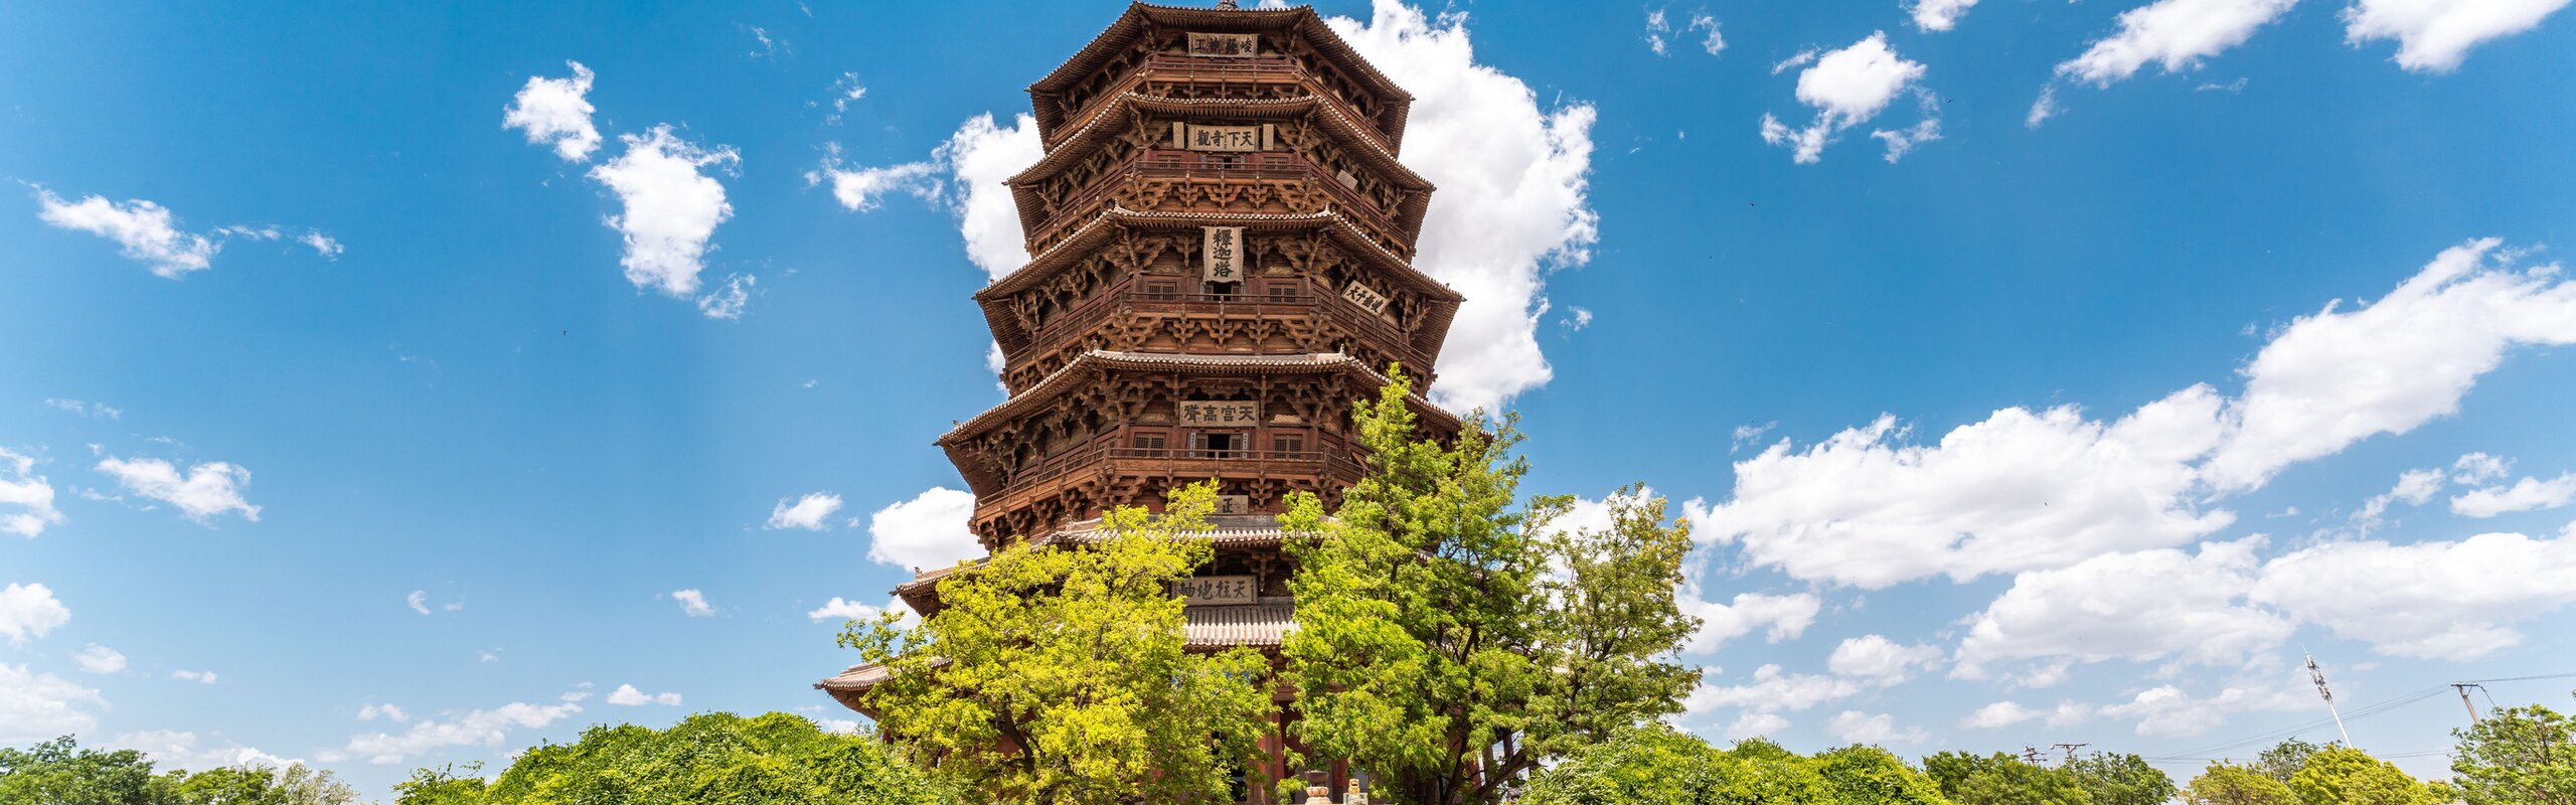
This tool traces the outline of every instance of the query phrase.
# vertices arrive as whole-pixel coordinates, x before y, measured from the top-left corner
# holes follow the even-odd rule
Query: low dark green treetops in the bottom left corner
[[[72,735],[0,746],[0,802],[36,805],[348,805],[358,792],[304,764],[152,774],[131,748],[80,748]]]

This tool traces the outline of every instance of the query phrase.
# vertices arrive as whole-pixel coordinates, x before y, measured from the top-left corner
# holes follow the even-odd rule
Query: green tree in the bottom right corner
[[[2468,805],[2576,805],[2576,728],[2555,710],[2506,707],[2452,730],[2452,784]]]

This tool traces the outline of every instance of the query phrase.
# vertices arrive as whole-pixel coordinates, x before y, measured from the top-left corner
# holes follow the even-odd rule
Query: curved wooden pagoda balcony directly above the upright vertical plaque
[[[1095,214],[1108,212],[1113,199],[1133,194],[1139,181],[1177,178],[1216,186],[1293,183],[1319,188],[1332,199],[1332,212],[1360,227],[1370,240],[1412,261],[1414,235],[1422,222],[1399,222],[1378,201],[1345,186],[1340,178],[1298,152],[1193,152],[1193,150],[1141,150],[1126,163],[1100,173],[1090,186],[1043,212],[1046,222],[1028,240],[1028,253],[1046,253],[1066,235],[1077,232]],[[1128,206],[1139,209],[1139,206]],[[1206,212],[1206,214],[1311,214],[1321,209],[1159,209],[1139,212]]]

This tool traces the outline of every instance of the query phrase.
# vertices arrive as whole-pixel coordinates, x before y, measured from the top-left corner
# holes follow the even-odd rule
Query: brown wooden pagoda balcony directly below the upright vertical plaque
[[[1139,289],[1146,276],[1128,276],[1110,284],[1100,294],[1077,302],[1072,310],[1054,315],[1046,325],[1028,333],[1028,341],[1018,348],[1005,348],[1002,359],[1007,364],[1005,377],[1023,379],[1012,387],[1025,387],[1056,366],[1043,366],[1033,377],[1023,377],[1030,359],[1043,359],[1082,343],[1082,335],[1097,333],[1097,328],[1115,317],[1216,317],[1216,320],[1309,320],[1319,325],[1334,325],[1342,333],[1365,338],[1370,346],[1386,351],[1388,359],[1401,361],[1409,372],[1427,374],[1432,356],[1414,343],[1394,323],[1368,312],[1358,302],[1342,299],[1337,294],[1319,294],[1316,286],[1301,284],[1296,294],[1180,294],[1180,292],[1149,292]],[[1128,346],[1113,346],[1128,348]],[[1324,351],[1314,343],[1291,346],[1283,351]],[[1061,361],[1059,361],[1061,366]],[[1383,369],[1383,366],[1373,366]]]

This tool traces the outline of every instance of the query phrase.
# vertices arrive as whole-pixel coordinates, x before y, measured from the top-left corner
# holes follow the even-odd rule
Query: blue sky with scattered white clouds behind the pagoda
[[[1692,501],[1682,725],[2244,756],[2303,648],[2576,671],[2561,5],[1319,10],[1422,98],[1440,400]],[[1020,88],[1118,10],[0,10],[0,740],[384,792],[842,717],[963,534]]]

